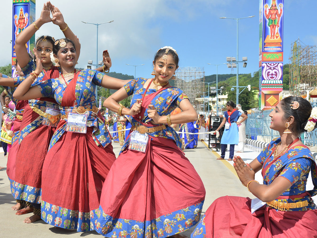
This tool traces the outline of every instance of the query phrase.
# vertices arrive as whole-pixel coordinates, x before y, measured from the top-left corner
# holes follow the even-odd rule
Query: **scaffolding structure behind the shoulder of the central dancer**
[[[204,109],[204,104],[196,100],[197,97],[203,96],[204,82],[205,71],[203,67],[179,67],[177,70],[175,87],[185,92],[197,111]]]

